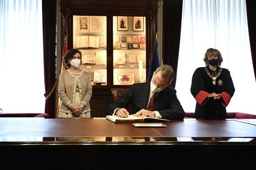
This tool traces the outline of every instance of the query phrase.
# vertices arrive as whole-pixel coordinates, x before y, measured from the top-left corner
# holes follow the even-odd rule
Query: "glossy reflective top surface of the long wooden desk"
[[[0,144],[6,142],[151,142],[179,141],[256,143],[255,120],[196,120],[163,122],[166,128],[134,128],[105,118],[0,118]]]

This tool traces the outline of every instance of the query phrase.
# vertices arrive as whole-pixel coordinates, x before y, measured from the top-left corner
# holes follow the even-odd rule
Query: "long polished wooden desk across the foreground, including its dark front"
[[[256,125],[246,120],[164,124],[166,128],[134,128],[96,118],[0,118],[1,165],[9,169],[256,168]]]

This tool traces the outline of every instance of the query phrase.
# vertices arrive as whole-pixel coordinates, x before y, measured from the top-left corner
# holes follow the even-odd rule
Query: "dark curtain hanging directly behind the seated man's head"
[[[164,0],[163,6],[163,51],[162,62],[173,67],[175,77],[171,87],[175,87],[182,17],[182,0]]]

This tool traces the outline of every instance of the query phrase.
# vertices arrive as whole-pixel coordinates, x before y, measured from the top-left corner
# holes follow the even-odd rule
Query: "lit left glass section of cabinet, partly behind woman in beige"
[[[106,16],[73,16],[73,48],[81,51],[91,84],[106,85]]]

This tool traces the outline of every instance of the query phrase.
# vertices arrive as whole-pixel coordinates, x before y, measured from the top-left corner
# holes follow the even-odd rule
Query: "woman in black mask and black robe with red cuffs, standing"
[[[220,67],[223,59],[217,49],[208,49],[203,60],[206,67],[195,70],[190,88],[197,101],[194,117],[226,119],[226,107],[235,92],[230,72]]]

